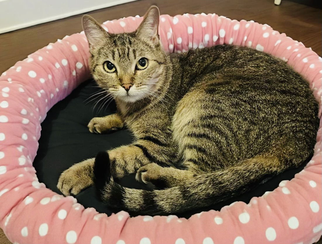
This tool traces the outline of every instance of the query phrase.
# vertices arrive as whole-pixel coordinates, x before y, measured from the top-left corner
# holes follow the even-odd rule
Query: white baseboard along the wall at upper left
[[[137,0],[0,0],[0,33],[132,1]]]

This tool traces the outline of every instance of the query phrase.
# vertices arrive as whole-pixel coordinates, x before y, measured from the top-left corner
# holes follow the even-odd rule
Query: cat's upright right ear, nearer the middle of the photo
[[[137,36],[159,43],[159,17],[160,12],[157,6],[151,6],[143,17],[143,21],[137,28]]]

